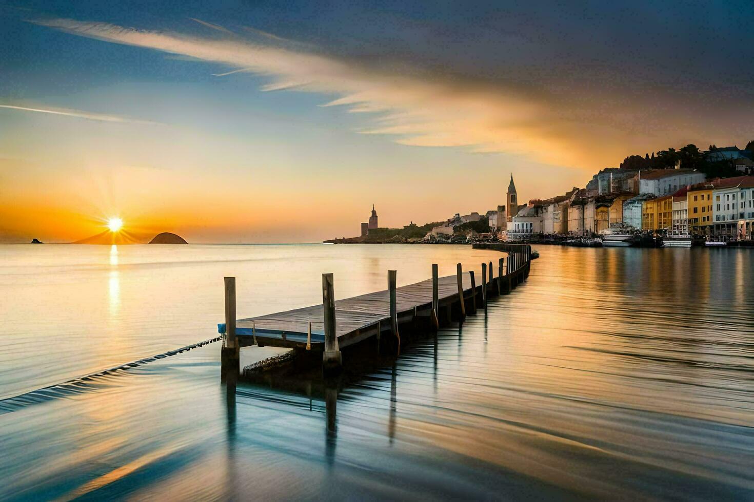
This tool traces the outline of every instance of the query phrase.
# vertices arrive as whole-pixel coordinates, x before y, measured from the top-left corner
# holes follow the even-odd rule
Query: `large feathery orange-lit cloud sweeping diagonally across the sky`
[[[618,163],[627,150],[651,145],[658,132],[672,129],[673,114],[648,114],[636,100],[615,99],[600,90],[553,95],[544,87],[515,84],[520,82],[516,78],[486,81],[421,65],[336,56],[269,35],[247,40],[196,21],[213,29],[215,37],[68,19],[36,23],[227,65],[228,71],[218,76],[265,75],[271,82],[262,90],[335,95],[323,106],[372,114],[373,126],[360,132],[391,135],[403,145],[526,154],[547,163],[593,168]],[[689,132],[699,131],[690,127]]]

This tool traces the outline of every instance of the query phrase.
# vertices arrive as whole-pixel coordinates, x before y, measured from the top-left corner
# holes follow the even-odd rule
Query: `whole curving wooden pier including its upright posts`
[[[400,329],[424,321],[428,327],[462,322],[477,308],[486,308],[491,295],[507,294],[529,275],[532,248],[502,243],[476,244],[475,249],[507,253],[482,264],[482,275],[464,272],[458,263],[456,274],[432,278],[396,288],[394,270],[388,271],[388,289],[358,297],[335,300],[332,274],[323,274],[323,303],[303,309],[235,320],[235,278],[225,278],[225,323],[218,332],[225,335],[223,366],[238,367],[238,350],[249,345],[270,345],[323,352],[326,371],[341,364],[340,348],[373,336],[391,336],[400,347]],[[496,270],[495,270],[496,269]],[[496,273],[495,273],[496,272]],[[229,327],[229,329],[228,329]]]

